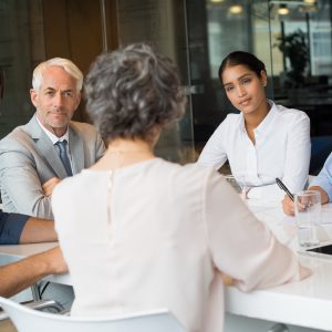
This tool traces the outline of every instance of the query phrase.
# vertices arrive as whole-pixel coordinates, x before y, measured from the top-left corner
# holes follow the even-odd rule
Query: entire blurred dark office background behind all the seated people
[[[69,58],[86,73],[101,52],[145,41],[176,61],[188,95],[186,116],[163,135],[157,154],[196,160],[235,112],[219,83],[220,61],[245,50],[267,64],[268,96],[310,116],[317,174],[332,151],[331,24],[329,0],[0,0],[0,138],[34,112],[37,63]],[[89,121],[84,103],[74,118]]]

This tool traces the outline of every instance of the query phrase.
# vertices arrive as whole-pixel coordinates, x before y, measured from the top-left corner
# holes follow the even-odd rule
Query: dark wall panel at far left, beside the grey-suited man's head
[[[34,63],[43,60],[41,1],[0,1],[0,138],[33,114],[29,87]]]

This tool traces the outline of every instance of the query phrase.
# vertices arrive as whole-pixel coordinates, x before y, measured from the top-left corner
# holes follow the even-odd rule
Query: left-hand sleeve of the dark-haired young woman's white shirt
[[[225,149],[226,142],[224,139],[224,125],[222,122],[215,131],[212,136],[205,145],[197,163],[204,166],[211,166],[219,169],[227,160],[227,153]]]

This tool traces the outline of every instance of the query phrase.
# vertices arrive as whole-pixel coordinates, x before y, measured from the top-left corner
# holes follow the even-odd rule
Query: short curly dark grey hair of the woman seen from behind
[[[177,70],[147,44],[101,54],[85,81],[87,113],[102,137],[149,139],[185,110]]]

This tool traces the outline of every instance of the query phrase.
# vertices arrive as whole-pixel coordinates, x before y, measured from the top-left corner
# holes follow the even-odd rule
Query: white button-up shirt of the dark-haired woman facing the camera
[[[204,147],[198,163],[219,169],[228,159],[232,175],[252,189],[249,198],[280,200],[284,193],[279,177],[291,193],[302,190],[310,163],[310,121],[298,110],[269,101],[270,111],[253,131],[253,144],[242,113],[228,114]]]

